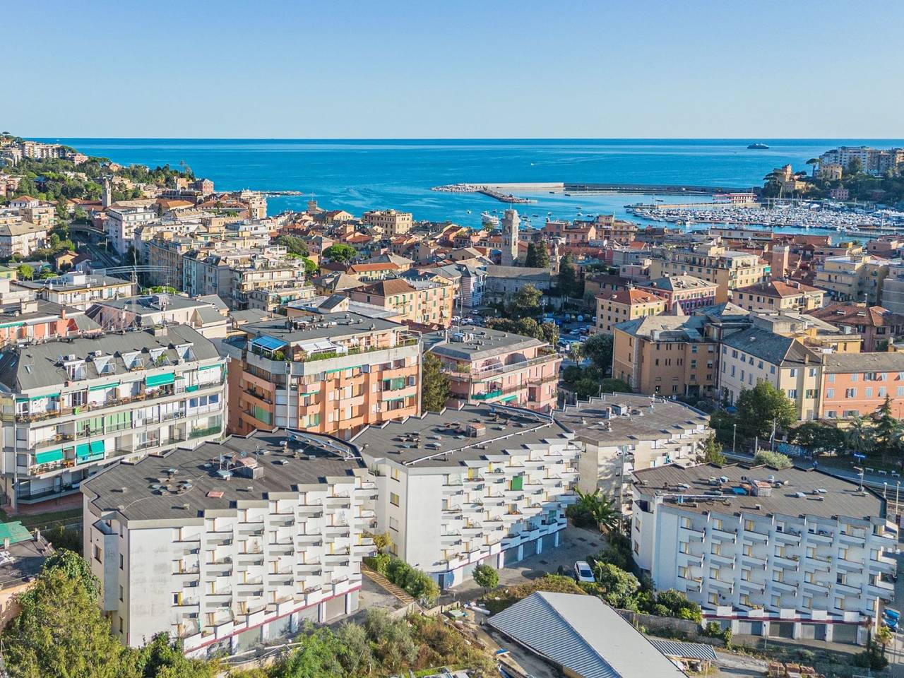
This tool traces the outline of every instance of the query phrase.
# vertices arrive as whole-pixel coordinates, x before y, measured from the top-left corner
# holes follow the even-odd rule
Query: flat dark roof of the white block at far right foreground
[[[883,515],[882,500],[870,491],[858,491],[857,483],[829,476],[818,470],[776,469],[770,466],[658,466],[634,472],[638,488],[644,494],[689,495],[681,504],[685,511],[704,513],[752,513],[758,515],[815,515],[822,518],[846,516],[869,520]],[[772,477],[770,481],[769,478]],[[728,482],[711,483],[711,478]],[[746,480],[745,480],[746,478]],[[750,483],[765,481],[771,485],[769,496],[749,494]],[[747,485],[742,490],[744,485]],[[780,485],[779,485],[780,484]],[[701,497],[713,494],[712,499]]]

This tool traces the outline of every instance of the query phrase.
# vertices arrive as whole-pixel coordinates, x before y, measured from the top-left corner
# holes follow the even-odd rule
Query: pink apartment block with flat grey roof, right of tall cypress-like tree
[[[449,380],[450,405],[508,403],[549,412],[555,407],[561,356],[532,336],[475,325],[424,335]]]

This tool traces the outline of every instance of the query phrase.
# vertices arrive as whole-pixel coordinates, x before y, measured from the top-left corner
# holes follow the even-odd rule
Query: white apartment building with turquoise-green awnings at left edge
[[[122,457],[221,438],[225,360],[186,325],[24,345],[0,354],[4,493],[74,494]]]

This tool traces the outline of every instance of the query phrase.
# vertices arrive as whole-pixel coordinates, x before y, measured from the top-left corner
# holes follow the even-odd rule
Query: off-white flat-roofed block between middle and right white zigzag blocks
[[[601,490],[630,511],[631,472],[696,461],[712,434],[709,415],[677,400],[607,393],[556,410],[580,447],[581,492]]]

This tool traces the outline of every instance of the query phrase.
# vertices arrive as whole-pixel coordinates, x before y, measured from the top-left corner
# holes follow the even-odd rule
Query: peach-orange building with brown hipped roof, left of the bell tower
[[[446,278],[391,278],[349,290],[349,298],[397,311],[402,322],[448,327],[458,294]]]

